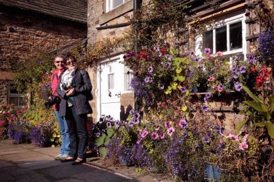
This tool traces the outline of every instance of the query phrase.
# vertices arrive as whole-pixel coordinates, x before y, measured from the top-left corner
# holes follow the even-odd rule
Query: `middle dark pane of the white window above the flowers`
[[[216,52],[227,51],[227,27],[216,29]]]

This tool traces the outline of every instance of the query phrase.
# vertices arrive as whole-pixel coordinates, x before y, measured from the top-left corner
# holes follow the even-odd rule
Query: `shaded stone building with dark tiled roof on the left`
[[[86,38],[87,1],[0,0],[0,104],[22,106],[11,89],[9,59],[27,60],[36,50],[52,52]]]

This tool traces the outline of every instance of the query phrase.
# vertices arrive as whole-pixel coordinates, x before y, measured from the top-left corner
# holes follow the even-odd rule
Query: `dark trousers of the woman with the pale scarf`
[[[66,108],[66,123],[69,127],[69,140],[71,142],[71,157],[86,158],[88,147],[88,130],[86,127],[87,115],[77,115],[75,106]]]

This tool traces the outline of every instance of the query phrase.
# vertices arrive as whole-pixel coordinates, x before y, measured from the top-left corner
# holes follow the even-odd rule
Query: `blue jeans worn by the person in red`
[[[55,115],[56,115],[56,119],[59,123],[59,128],[60,128],[61,138],[62,138],[60,154],[69,155],[69,153],[71,153],[71,149],[70,149],[70,142],[69,142],[68,125],[66,124],[66,120],[64,119],[64,117],[59,116],[58,110],[55,110]]]

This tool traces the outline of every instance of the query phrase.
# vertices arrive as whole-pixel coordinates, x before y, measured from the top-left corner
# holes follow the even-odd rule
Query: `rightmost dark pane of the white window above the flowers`
[[[242,48],[242,22],[229,25],[230,50]]]

